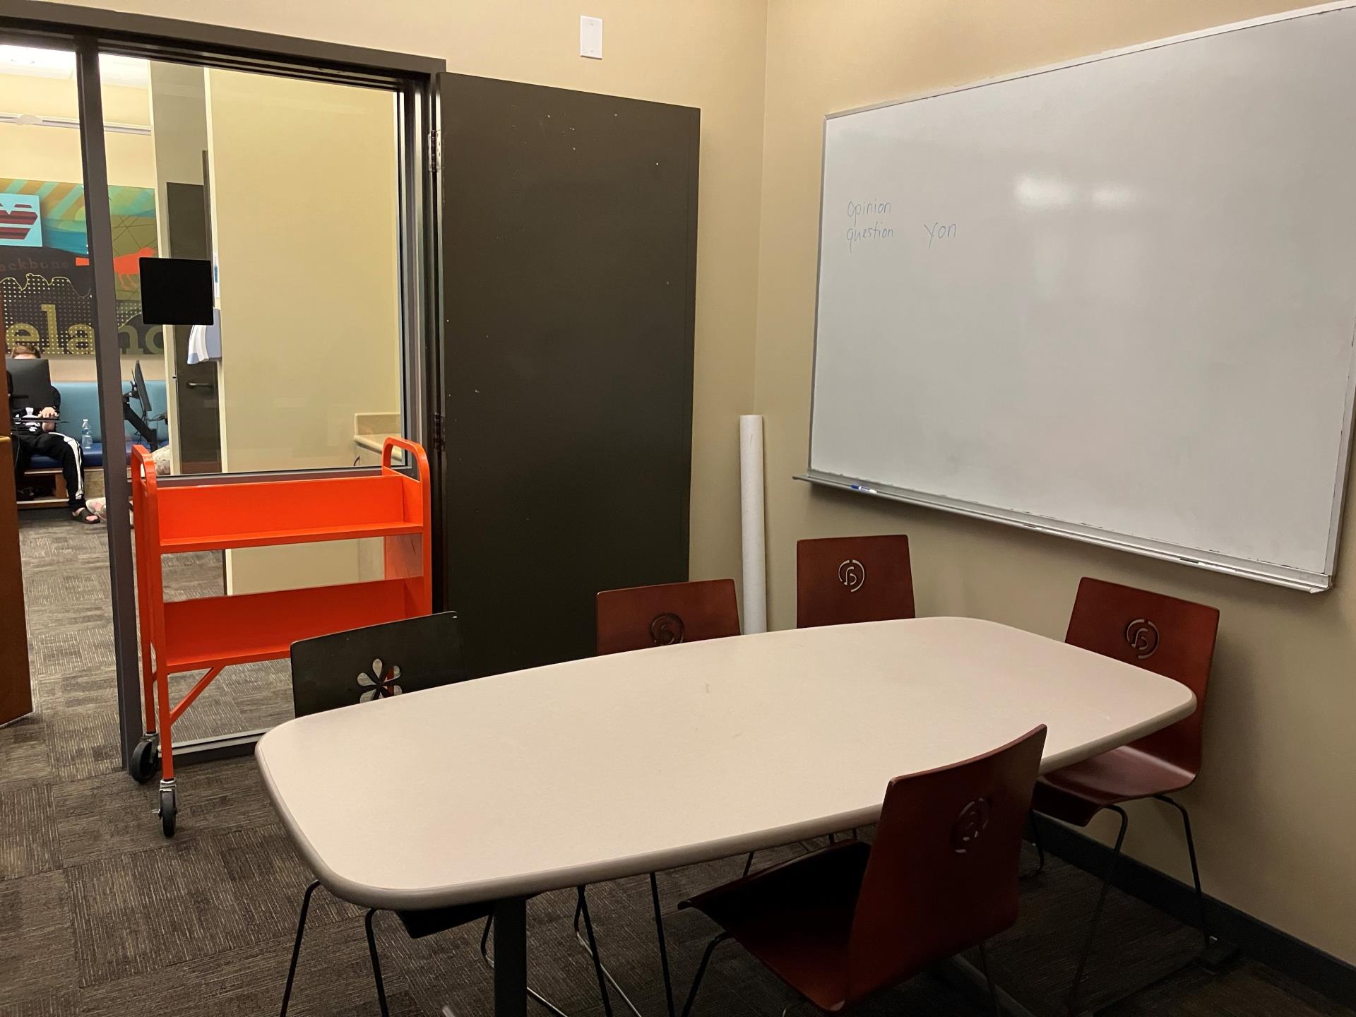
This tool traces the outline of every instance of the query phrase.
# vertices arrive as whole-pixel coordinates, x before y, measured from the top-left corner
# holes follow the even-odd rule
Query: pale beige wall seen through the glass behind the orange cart
[[[237,71],[206,96],[222,468],[351,465],[354,414],[400,408],[395,96]],[[361,239],[336,214],[355,201]],[[358,561],[348,541],[231,551],[226,583],[353,582]]]

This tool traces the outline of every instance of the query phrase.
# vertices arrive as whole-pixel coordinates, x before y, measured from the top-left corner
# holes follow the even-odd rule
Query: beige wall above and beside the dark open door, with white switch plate
[[[92,7],[110,7],[83,0]],[[753,396],[766,0],[119,0],[118,9],[441,57],[452,71],[701,108],[692,575],[739,575]],[[397,14],[392,14],[397,11]],[[603,60],[579,57],[579,15]]]

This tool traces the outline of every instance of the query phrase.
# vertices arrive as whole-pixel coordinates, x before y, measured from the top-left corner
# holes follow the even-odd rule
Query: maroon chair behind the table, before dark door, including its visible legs
[[[704,639],[723,639],[739,635],[739,603],[735,599],[734,579],[706,579],[693,583],[663,583],[660,586],[633,586],[626,590],[603,590],[597,602],[598,655],[622,654],[674,643],[697,643]],[[749,856],[750,858],[753,856]],[[659,880],[650,873],[650,899],[655,911],[655,936],[659,941],[659,967],[664,976],[664,1001],[669,1017],[674,1017],[673,978],[669,971],[669,946],[664,941],[663,913],[659,906]],[[579,919],[587,919],[584,888],[579,888],[575,906],[575,938],[593,955],[594,963],[622,1001],[639,1013],[636,1005],[618,984],[613,974],[598,959],[579,929]]]

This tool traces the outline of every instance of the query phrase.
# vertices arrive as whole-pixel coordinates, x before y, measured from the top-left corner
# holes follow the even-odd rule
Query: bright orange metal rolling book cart
[[[392,468],[396,449],[405,452],[414,476]],[[132,776],[151,780],[159,759],[160,823],[172,837],[179,811],[174,723],[224,667],[283,659],[301,639],[433,612],[428,457],[414,442],[386,438],[380,475],[161,485],[151,453],[138,445],[132,450],[132,500],[146,711]],[[385,538],[381,579],[164,599],[164,555],[365,537]],[[202,670],[198,683],[171,705],[170,675]]]

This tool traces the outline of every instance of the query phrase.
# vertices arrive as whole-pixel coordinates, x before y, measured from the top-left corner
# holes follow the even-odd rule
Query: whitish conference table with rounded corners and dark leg
[[[655,647],[290,720],[255,751],[320,883],[495,909],[495,1013],[526,1012],[525,899],[879,816],[885,784],[1048,727],[1041,772],[1188,716],[1185,686],[975,618]]]

